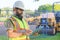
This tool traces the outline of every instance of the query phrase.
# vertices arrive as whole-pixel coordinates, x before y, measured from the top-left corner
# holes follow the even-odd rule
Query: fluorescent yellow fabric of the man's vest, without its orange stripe
[[[28,24],[26,23],[26,21],[24,19],[22,19],[22,21],[20,19],[18,19],[17,17],[12,17],[15,19],[15,21],[20,25],[20,28],[22,29],[29,29]],[[14,20],[11,20],[12,23],[14,22]],[[16,26],[13,27],[14,30],[16,30]],[[29,37],[27,37],[26,35],[22,35],[21,37],[16,37],[16,38],[9,38],[9,40],[27,40],[29,39]]]

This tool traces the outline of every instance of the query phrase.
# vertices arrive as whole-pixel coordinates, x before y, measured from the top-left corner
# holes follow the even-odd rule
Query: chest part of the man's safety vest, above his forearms
[[[12,17],[11,21],[13,22],[14,30],[17,30],[16,26],[18,26],[20,29],[29,29],[28,25],[24,19],[22,19],[22,21],[21,21],[16,17]]]

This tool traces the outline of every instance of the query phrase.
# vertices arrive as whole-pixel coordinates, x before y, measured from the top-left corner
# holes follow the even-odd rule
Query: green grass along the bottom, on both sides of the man
[[[8,40],[8,37],[6,36],[0,36],[0,40]],[[49,36],[49,37],[46,37],[46,38],[32,38],[30,40],[60,40],[60,33],[57,33],[56,35],[54,36]]]

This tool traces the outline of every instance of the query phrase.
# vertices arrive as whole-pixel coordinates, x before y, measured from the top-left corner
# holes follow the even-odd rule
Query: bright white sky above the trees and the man
[[[37,10],[39,6],[44,4],[53,4],[54,2],[59,2],[60,0],[0,0],[0,8],[13,7],[14,2],[22,1],[24,3],[25,9]]]

